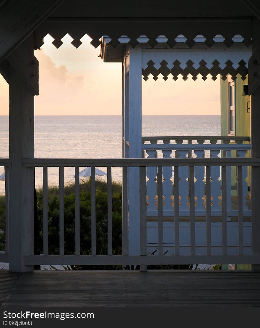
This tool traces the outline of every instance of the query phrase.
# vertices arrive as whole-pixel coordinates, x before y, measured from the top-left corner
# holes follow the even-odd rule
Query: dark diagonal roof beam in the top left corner
[[[63,1],[2,1],[0,12],[0,62]]]

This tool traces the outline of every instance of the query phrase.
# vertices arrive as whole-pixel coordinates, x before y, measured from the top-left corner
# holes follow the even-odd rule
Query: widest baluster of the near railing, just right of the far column
[[[146,167],[140,166],[140,255],[147,255],[146,237]]]

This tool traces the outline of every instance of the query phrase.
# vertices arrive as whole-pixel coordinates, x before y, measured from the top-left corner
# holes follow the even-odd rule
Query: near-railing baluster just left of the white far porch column
[[[123,255],[128,255],[128,196],[127,196],[127,167],[123,166]]]

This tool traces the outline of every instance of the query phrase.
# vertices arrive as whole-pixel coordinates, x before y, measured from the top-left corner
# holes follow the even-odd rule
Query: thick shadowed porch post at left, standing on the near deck
[[[38,84],[31,71],[33,39],[29,37],[9,60],[9,271],[32,271],[24,256],[33,255],[34,170],[24,168],[23,158],[34,157],[34,92],[26,83]],[[28,75],[27,75],[28,73]],[[23,75],[24,74],[24,75]],[[38,85],[36,86],[36,89]],[[37,93],[37,92],[35,92]]]

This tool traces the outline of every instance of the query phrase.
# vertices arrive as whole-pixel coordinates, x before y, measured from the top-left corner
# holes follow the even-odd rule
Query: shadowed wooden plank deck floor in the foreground
[[[260,306],[260,272],[0,271],[2,306]]]

